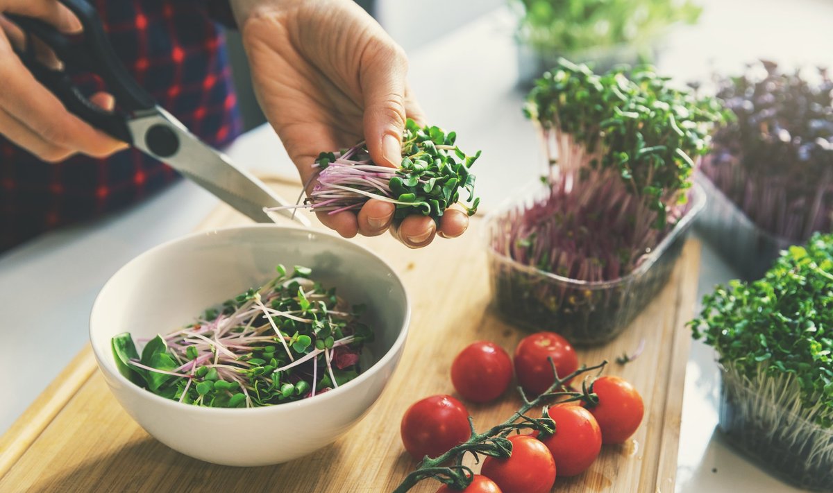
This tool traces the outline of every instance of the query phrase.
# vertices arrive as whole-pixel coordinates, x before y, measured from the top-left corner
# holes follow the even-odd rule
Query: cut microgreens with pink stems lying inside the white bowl
[[[312,281],[311,270],[278,276],[197,323],[156,336],[139,356],[129,333],[112,339],[122,375],[186,404],[257,407],[297,401],[351,381],[371,329],[353,306]]]

